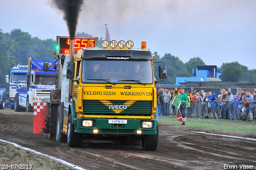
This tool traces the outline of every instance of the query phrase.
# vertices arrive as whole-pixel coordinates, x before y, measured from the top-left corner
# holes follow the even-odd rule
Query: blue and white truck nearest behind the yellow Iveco
[[[14,98],[15,112],[33,112],[34,102],[42,102],[42,100],[50,99],[51,90],[55,90],[57,81],[57,65],[52,60],[49,62],[49,71],[44,72],[43,66],[45,60],[33,60],[28,57],[28,75],[26,81],[28,86],[26,89],[17,89]],[[52,71],[52,72],[51,72]]]

